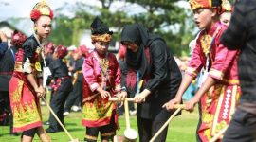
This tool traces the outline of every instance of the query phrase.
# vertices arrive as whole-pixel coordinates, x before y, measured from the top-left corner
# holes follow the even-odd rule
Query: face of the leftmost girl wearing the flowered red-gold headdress
[[[51,32],[51,19],[49,16],[40,16],[40,18],[35,22],[34,27],[37,30],[37,35],[39,38],[45,39]]]

